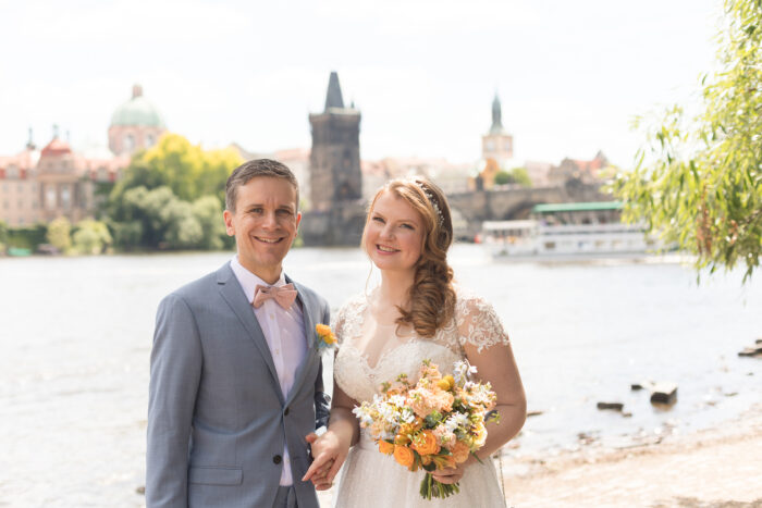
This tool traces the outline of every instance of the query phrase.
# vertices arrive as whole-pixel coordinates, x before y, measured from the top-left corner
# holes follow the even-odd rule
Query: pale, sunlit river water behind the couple
[[[0,506],[140,506],[148,359],[159,300],[232,255],[0,259]],[[529,410],[511,456],[618,446],[732,421],[762,395],[762,281],[676,263],[512,264],[451,253],[502,317]],[[376,275],[356,249],[297,249],[286,272],[336,310]],[[330,367],[330,365],[329,365]],[[330,368],[327,369],[330,375]],[[671,381],[654,408],[630,383]],[[599,411],[622,401],[625,418]]]

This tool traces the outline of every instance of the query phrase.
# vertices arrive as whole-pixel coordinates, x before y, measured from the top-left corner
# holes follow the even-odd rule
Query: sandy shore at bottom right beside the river
[[[508,506],[762,508],[762,405],[716,429],[627,448],[503,458]],[[332,506],[332,491],[320,493]]]

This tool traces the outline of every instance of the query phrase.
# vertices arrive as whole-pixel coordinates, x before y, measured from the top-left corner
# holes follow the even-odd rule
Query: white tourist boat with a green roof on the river
[[[495,258],[587,259],[653,253],[661,244],[642,224],[619,220],[618,201],[538,205],[524,221],[488,221],[481,243]]]

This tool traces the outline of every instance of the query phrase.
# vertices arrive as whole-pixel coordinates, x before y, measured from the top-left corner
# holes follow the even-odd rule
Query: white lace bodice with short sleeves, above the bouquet
[[[431,338],[422,338],[411,332],[402,337],[390,337],[393,347],[377,348],[380,355],[367,354],[367,327],[370,295],[360,294],[345,303],[335,317],[333,330],[339,338],[339,354],[333,367],[336,384],[358,402],[370,400],[380,393],[381,383],[394,381],[400,374],[417,380],[420,363],[430,359],[440,371],[452,373],[453,363],[464,359],[464,346],[476,347],[479,352],[496,344],[507,344],[508,337],[500,318],[484,299],[456,287],[455,312],[452,321],[437,331]],[[390,334],[394,327],[390,327]],[[382,339],[378,331],[373,340]],[[366,346],[364,346],[364,343]]]

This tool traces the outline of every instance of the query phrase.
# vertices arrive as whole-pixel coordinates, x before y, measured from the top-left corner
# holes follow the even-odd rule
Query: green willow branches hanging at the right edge
[[[725,0],[723,25],[701,111],[675,106],[644,127],[638,163],[613,190],[625,220],[697,253],[697,268],[746,265],[746,282],[762,250],[762,0]]]

